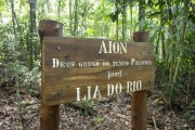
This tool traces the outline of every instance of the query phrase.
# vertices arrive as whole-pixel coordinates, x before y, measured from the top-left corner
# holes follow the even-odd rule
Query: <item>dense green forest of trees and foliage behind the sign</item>
[[[195,120],[195,0],[0,0],[0,84],[14,86],[18,103],[21,87],[40,82],[42,20],[63,23],[66,37],[132,41],[150,31],[156,89]]]

